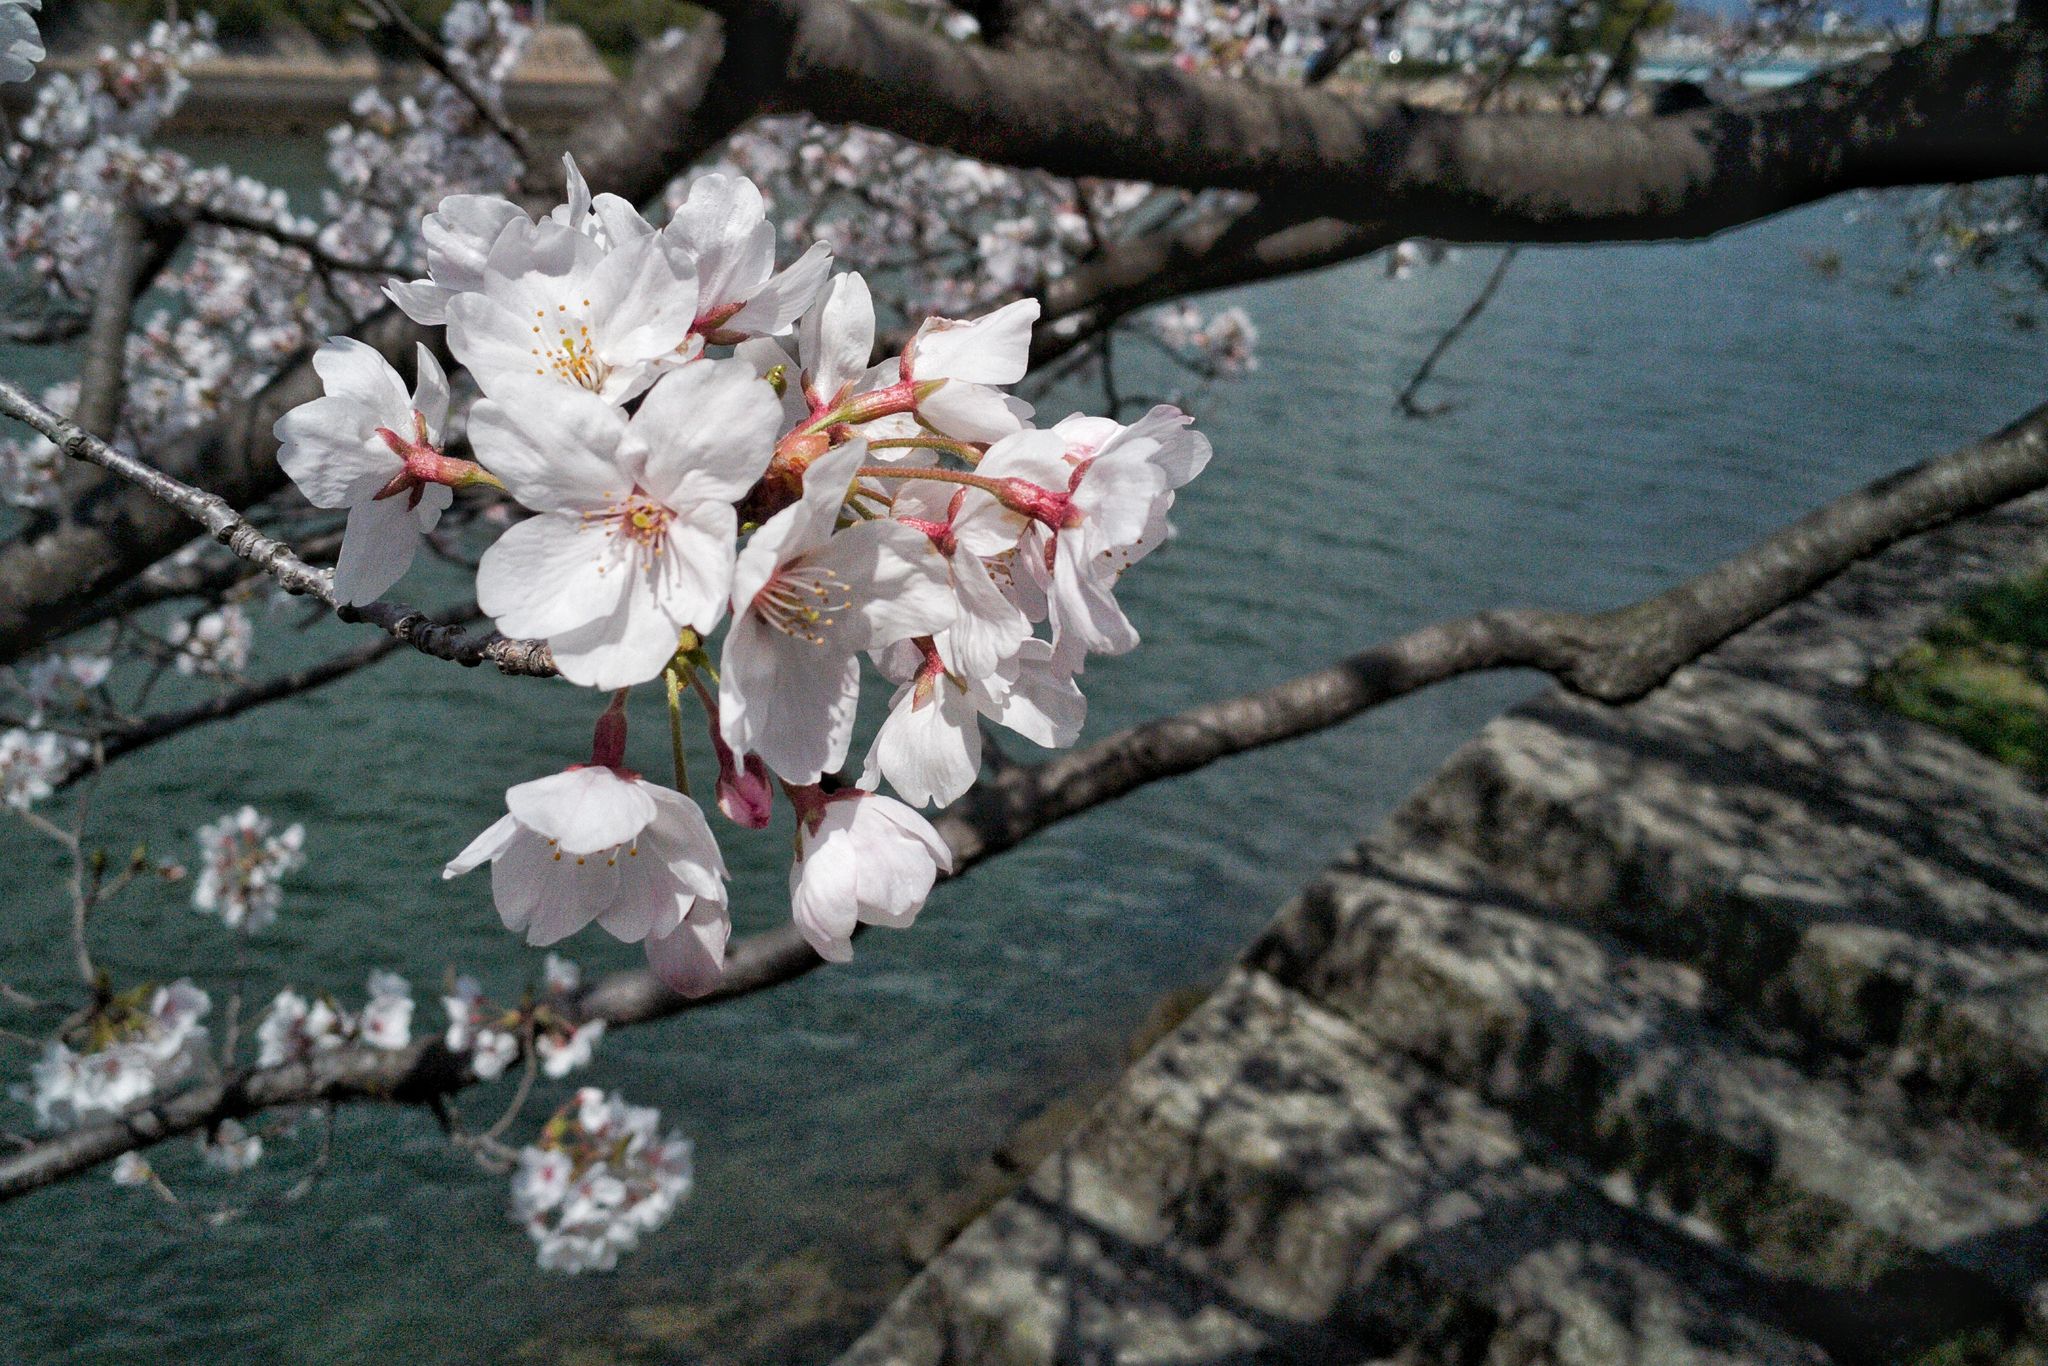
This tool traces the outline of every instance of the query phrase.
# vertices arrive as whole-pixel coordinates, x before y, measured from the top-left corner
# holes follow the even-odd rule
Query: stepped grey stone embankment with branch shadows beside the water
[[[842,1366],[2048,1360],[2048,799],[1864,698],[2042,561],[1489,725]]]

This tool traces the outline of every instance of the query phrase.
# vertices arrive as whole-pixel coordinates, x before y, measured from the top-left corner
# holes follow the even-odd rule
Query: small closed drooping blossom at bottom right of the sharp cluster
[[[854,926],[907,928],[932,883],[952,870],[952,850],[932,823],[891,797],[862,791],[805,797],[788,899],[797,930],[817,956],[854,956]]]

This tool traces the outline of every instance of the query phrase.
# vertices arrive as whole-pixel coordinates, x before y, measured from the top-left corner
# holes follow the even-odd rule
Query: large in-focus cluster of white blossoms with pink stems
[[[614,694],[590,762],[512,786],[446,874],[489,862],[504,924],[532,944],[596,922],[678,991],[715,987],[731,934],[717,840],[684,791],[625,766],[625,692],[666,676],[672,707],[705,711],[719,809],[760,829],[774,782],[793,805],[791,901],[817,952],[848,958],[862,922],[909,924],[950,852],[881,780],[952,801],[983,721],[1075,739],[1085,657],[1139,639],[1116,582],[1165,539],[1208,442],[1171,408],[1032,426],[1001,387],[1026,371],[1034,301],[928,319],[870,367],[866,283],[831,276],[823,244],[778,272],[743,178],[700,178],[657,229],[571,164],[549,217],[451,197],[426,240],[426,279],[389,293],[446,326],[483,391],[477,461],[442,451],[449,387],[424,348],[408,387],[338,338],[315,358],[326,397],[276,424],[279,463],[348,510],[344,602],[397,582],[453,489],[510,494],[532,516],[483,553],[477,602]],[[862,655],[897,692],[860,786],[834,791]]]

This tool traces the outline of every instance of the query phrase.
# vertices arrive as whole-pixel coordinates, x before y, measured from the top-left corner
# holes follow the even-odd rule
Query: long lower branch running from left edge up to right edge
[[[1327,670],[1147,721],[1044,764],[1004,768],[942,811],[936,825],[958,877],[1049,825],[1161,778],[1339,725],[1479,670],[1542,670],[1583,696],[1626,702],[1860,559],[2042,487],[2048,487],[2048,405],[1978,444],[1839,498],[1634,606],[1593,614],[1479,612],[1423,627]],[[578,1012],[610,1026],[643,1024],[795,981],[821,963],[795,928],[784,926],[735,942],[711,995],[682,997],[651,973],[629,971],[594,983]],[[264,1108],[336,1100],[430,1104],[473,1081],[465,1059],[438,1038],[395,1053],[346,1047],[305,1063],[240,1073],[0,1157],[0,1200]]]

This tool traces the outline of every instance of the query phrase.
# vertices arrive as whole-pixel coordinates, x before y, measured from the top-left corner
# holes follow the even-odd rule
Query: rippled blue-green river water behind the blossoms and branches
[[[1823,248],[1841,250],[1843,274],[1802,262]],[[1409,281],[1356,264],[1231,297],[1264,332],[1264,367],[1190,395],[1217,461],[1178,508],[1180,541],[1126,580],[1147,641],[1090,668],[1090,735],[1440,616],[1638,598],[2040,401],[2042,334],[1997,322],[1974,281],[1892,297],[1894,252],[1841,205],[1706,246],[1528,252],[1444,365],[1440,397],[1458,408],[1434,422],[1393,418],[1389,397],[1491,254]],[[1174,383],[1126,350],[1139,360],[1126,387]],[[1061,395],[1044,416],[1092,399]],[[260,633],[260,666],[360,639],[334,623],[301,635],[291,612]],[[524,1343],[561,1360],[602,1329],[641,1339],[645,1360],[696,1360],[707,1341],[721,1358],[788,1360],[729,1327],[674,1333],[700,1325],[735,1270],[805,1249],[877,1284],[905,1188],[987,1151],[1055,1090],[1108,1075],[1159,993],[1214,975],[1298,883],[1534,686],[1436,688],[1151,788],[944,887],[913,932],[864,938],[852,967],[608,1038],[594,1079],[659,1104],[698,1145],[696,1196],[614,1276],[535,1270],[500,1180],[426,1114],[354,1106],[309,1198],[211,1233],[104,1173],[8,1204],[0,1356],[457,1362]],[[358,999],[373,967],[422,987],[457,967],[510,995],[539,954],[498,928],[481,879],[434,874],[508,782],[573,758],[594,711],[567,686],[399,657],[117,766],[94,829],[190,856],[193,827],[240,801],[305,821],[307,866],[250,954],[264,993],[297,983]],[[633,743],[649,770],[659,739],[643,717]],[[786,844],[727,846],[741,928],[776,922]],[[0,866],[0,977],[61,991],[57,866],[12,825]],[[125,977],[188,965],[219,987],[231,973],[180,887],[123,901],[96,944]],[[569,950],[586,969],[633,958],[592,934]],[[0,1057],[25,1073],[25,1049]],[[487,1118],[494,1100],[465,1104]],[[29,1122],[12,1102],[0,1112],[4,1126]],[[299,1167],[311,1130],[276,1149],[281,1169]],[[184,1145],[160,1165],[209,1186]],[[844,1333],[825,1323],[813,1356]]]

